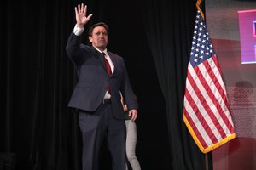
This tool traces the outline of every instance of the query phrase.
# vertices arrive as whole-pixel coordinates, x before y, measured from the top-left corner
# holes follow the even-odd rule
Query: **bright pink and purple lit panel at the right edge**
[[[256,63],[256,9],[238,11],[241,63]]]

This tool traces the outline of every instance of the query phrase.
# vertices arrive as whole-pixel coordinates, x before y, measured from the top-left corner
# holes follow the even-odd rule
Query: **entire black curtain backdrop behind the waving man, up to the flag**
[[[0,154],[15,153],[17,170],[81,169],[78,117],[67,108],[76,75],[65,51],[79,3],[94,14],[85,29],[106,22],[108,49],[125,59],[140,105],[142,168],[204,169],[181,116],[195,20],[195,2],[185,0],[1,2]],[[103,169],[108,156],[103,149]]]

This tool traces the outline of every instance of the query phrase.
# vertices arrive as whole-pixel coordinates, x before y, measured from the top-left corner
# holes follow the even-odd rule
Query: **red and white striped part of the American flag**
[[[183,116],[204,149],[234,133],[224,82],[216,56],[189,63]]]

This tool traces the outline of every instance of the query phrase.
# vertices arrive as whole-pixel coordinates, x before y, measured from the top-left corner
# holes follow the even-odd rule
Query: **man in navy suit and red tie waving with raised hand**
[[[78,82],[68,103],[79,111],[83,137],[83,170],[96,170],[105,136],[112,156],[113,170],[125,170],[125,113],[120,102],[123,94],[132,121],[137,119],[137,101],[131,88],[124,60],[107,49],[108,26],[96,23],[88,31],[91,46],[82,44],[87,6],[75,7],[76,26],[67,42],[67,54],[75,65]],[[102,54],[103,53],[103,54]],[[107,60],[106,60],[107,59]]]

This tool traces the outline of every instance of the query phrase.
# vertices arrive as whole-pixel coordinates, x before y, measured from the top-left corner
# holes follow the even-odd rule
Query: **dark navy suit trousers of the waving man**
[[[79,111],[79,127],[83,138],[83,170],[99,169],[99,154],[105,137],[112,156],[112,169],[125,170],[125,121],[113,117],[111,104],[102,103],[94,112]]]

